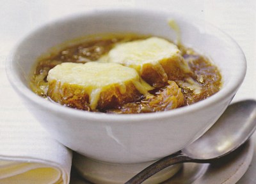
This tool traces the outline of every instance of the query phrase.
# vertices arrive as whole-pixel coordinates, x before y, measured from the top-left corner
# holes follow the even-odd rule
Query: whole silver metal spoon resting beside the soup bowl
[[[256,101],[246,100],[228,106],[218,121],[191,145],[173,153],[136,174],[125,184],[138,184],[162,169],[184,162],[211,163],[233,152],[256,129]]]

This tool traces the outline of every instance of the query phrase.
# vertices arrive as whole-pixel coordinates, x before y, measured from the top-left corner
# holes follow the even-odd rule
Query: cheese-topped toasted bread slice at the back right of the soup
[[[120,43],[104,60],[136,69],[153,87],[163,87],[168,80],[177,80],[190,71],[177,46],[157,37]]]

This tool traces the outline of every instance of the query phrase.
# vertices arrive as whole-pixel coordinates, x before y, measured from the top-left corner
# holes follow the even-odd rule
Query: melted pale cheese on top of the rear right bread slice
[[[120,43],[108,53],[108,62],[134,67],[137,71],[143,64],[159,64],[161,60],[180,55],[180,50],[166,39],[148,39]]]

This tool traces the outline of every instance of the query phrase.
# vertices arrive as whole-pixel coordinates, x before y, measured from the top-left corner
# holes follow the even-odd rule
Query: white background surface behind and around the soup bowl
[[[248,69],[233,101],[256,100],[255,0],[0,0],[0,122],[12,120],[5,109],[16,106],[16,118],[35,120],[13,92],[4,72],[4,60],[13,45],[45,22],[95,8],[150,8],[198,17],[232,36],[246,55]],[[9,98],[8,98],[9,97]],[[36,120],[35,120],[36,121]],[[256,139],[256,134],[253,135]],[[256,143],[256,140],[255,140]],[[256,145],[255,145],[256,152]],[[256,154],[239,184],[256,183]]]

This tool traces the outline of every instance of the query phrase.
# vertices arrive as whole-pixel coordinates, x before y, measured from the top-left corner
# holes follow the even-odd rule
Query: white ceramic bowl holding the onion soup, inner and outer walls
[[[64,41],[104,32],[152,34],[182,43],[212,59],[223,76],[223,88],[191,106],[159,113],[113,115],[75,110],[36,96],[28,86],[31,66],[42,53]],[[52,137],[78,153],[111,163],[156,160],[177,152],[201,136],[220,117],[241,85],[246,61],[236,42],[209,24],[171,12],[95,10],[51,22],[22,39],[8,57],[8,78],[31,113]]]

